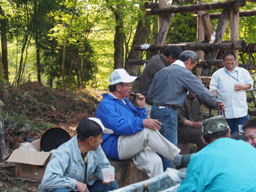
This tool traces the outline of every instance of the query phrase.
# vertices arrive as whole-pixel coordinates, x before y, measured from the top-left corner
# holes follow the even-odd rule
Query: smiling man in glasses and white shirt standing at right
[[[225,51],[224,67],[213,73],[210,91],[226,106],[225,117],[231,134],[239,131],[238,125],[249,120],[246,91],[253,90],[253,79],[250,73],[242,67],[235,66],[235,52]]]

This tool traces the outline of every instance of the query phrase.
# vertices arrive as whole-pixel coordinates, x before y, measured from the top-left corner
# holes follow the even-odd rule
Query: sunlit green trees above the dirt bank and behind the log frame
[[[73,91],[85,87],[106,89],[113,69],[124,68],[131,75],[140,74],[141,66],[129,66],[127,61],[145,59],[147,51],[133,51],[133,45],[154,43],[158,30],[157,16],[145,16],[144,3],[140,0],[1,0],[1,56],[7,55],[9,83],[19,87],[28,81],[38,81]],[[193,3],[197,2],[167,2]],[[247,2],[239,10],[251,9],[255,9],[255,3]],[[207,11],[213,12],[221,10]],[[197,41],[196,22],[193,14],[175,14],[167,42]],[[218,21],[211,22],[215,29]],[[255,17],[240,17],[239,40],[255,43],[255,24]],[[229,26],[223,40],[229,40],[228,29]],[[246,63],[246,54],[243,59]],[[3,63],[0,59],[1,83],[6,82]]]

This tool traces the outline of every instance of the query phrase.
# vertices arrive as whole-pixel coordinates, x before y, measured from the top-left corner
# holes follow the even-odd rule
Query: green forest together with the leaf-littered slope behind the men
[[[214,1],[205,1],[210,2]],[[154,43],[158,33],[158,18],[145,15],[144,3],[141,0],[0,0],[0,125],[3,125],[1,121],[5,123],[4,127],[0,126],[4,128],[0,129],[0,140],[8,143],[6,156],[19,147],[19,142],[25,141],[19,140],[17,134],[26,123],[33,127],[30,137],[39,138],[53,126],[75,134],[81,119],[94,117],[113,69],[124,68],[130,75],[141,74],[142,66],[127,65],[127,62],[147,59],[149,54],[133,51],[133,46]],[[197,1],[167,3],[188,5]],[[255,3],[246,2],[239,10],[255,7]],[[215,30],[218,20],[211,23]],[[255,31],[255,17],[239,18],[239,40],[256,43]],[[197,21],[193,20],[193,14],[175,14],[166,39],[168,43],[197,41]],[[223,41],[227,40],[229,24],[223,37]],[[246,64],[247,54],[243,53],[242,57]],[[136,83],[133,89],[137,88]],[[0,152],[1,160],[7,159]],[[7,172],[14,176],[14,169]],[[4,177],[0,170],[1,189],[21,191]],[[31,185],[38,188],[34,183]]]

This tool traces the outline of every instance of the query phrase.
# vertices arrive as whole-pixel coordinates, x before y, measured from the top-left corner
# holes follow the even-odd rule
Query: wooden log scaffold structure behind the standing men
[[[252,3],[256,3],[256,0],[246,0]],[[159,3],[145,2],[144,7],[146,15],[158,15],[159,33],[155,39],[155,43],[149,45],[147,51],[151,51],[149,59],[153,55],[159,54],[165,48],[173,45],[177,45],[185,50],[197,51],[199,55],[199,62],[197,67],[197,75],[201,77],[206,86],[211,81],[211,72],[214,67],[223,67],[223,60],[217,59],[219,50],[233,50],[238,58],[243,53],[249,54],[249,61],[245,65],[243,57],[241,57],[243,63],[239,64],[236,60],[235,65],[250,70],[256,70],[253,55],[256,53],[256,43],[246,44],[245,41],[239,41],[239,17],[251,17],[256,16],[256,10],[240,11],[239,7],[244,7],[245,0],[235,1],[220,1],[214,3],[205,3],[205,1],[198,1],[194,5],[167,5],[166,0],[159,0]],[[207,13],[207,10],[222,9],[221,13]],[[167,31],[171,25],[171,21],[175,13],[194,13],[193,19],[197,20],[197,42],[180,42],[180,43],[166,43]],[[211,25],[211,19],[219,19],[215,30],[215,41],[209,43],[205,41],[205,32],[207,33],[208,40],[211,39],[213,34],[213,26]],[[229,41],[223,41],[223,36],[227,28],[229,21]],[[135,51],[145,51],[141,48],[141,45],[135,45],[133,47]],[[205,54],[206,53],[206,54]],[[241,53],[241,54],[239,54]],[[206,55],[206,56],[205,56]],[[149,60],[133,60],[128,61],[129,65],[144,65]],[[138,78],[139,79],[139,78]],[[255,90],[251,91],[254,106],[249,106],[249,109],[253,108],[253,111],[248,111],[249,115],[256,116],[255,106]],[[247,98],[247,101],[250,100]]]

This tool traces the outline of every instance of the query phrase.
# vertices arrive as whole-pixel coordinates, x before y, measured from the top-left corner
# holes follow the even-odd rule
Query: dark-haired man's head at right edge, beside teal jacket
[[[245,132],[245,139],[256,149],[256,119],[250,119],[243,123],[243,131]]]

